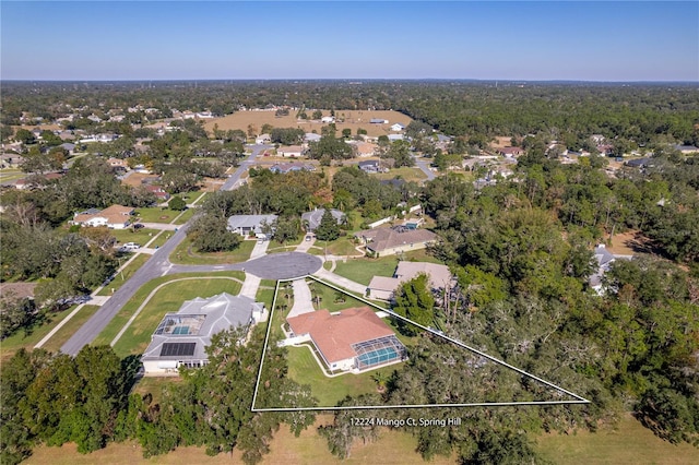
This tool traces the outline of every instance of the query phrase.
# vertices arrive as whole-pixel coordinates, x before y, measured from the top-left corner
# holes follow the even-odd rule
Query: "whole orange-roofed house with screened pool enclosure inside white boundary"
[[[318,310],[286,320],[295,343],[311,342],[330,371],[363,372],[407,357],[393,330],[368,307]]]

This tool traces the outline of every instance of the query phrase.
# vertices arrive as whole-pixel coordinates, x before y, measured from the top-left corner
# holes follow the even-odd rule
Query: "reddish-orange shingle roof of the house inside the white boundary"
[[[329,363],[355,357],[353,344],[394,335],[368,307],[347,309],[336,314],[318,310],[286,321],[294,334],[309,334]]]

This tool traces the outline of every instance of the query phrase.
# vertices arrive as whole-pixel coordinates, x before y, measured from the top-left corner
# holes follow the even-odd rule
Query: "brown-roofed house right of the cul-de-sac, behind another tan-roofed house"
[[[376,257],[419,250],[437,241],[435,233],[405,226],[366,229],[356,233],[355,237],[362,240],[368,254]]]

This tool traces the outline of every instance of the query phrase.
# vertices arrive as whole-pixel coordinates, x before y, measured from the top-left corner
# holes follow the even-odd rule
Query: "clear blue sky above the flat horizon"
[[[699,81],[698,1],[8,1],[2,80]]]

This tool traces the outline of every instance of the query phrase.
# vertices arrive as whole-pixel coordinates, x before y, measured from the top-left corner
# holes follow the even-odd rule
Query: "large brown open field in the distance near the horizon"
[[[312,110],[306,110],[308,116]],[[330,110],[323,110],[323,116],[330,116]],[[371,136],[388,135],[391,134],[389,128],[391,124],[400,122],[402,124],[410,124],[411,117],[392,110],[369,111],[369,110],[335,110],[337,118],[345,118],[345,122],[336,122],[337,135],[342,134],[342,130],[350,128],[352,135],[357,133],[357,129],[366,129],[367,134]],[[369,120],[372,118],[388,119],[387,124],[370,124]],[[225,116],[223,118],[215,118],[206,121],[204,129],[210,133],[213,133],[214,124],[218,124],[218,129],[227,131],[229,129],[240,129],[248,132],[248,124],[256,128],[256,133],[260,134],[263,124],[272,124],[274,128],[300,128],[304,132],[317,132],[320,134],[321,128],[328,126],[328,123],[321,123],[320,121],[298,120],[296,119],[296,112],[289,111],[285,117],[275,117],[274,110],[272,111],[237,111],[233,115]]]

